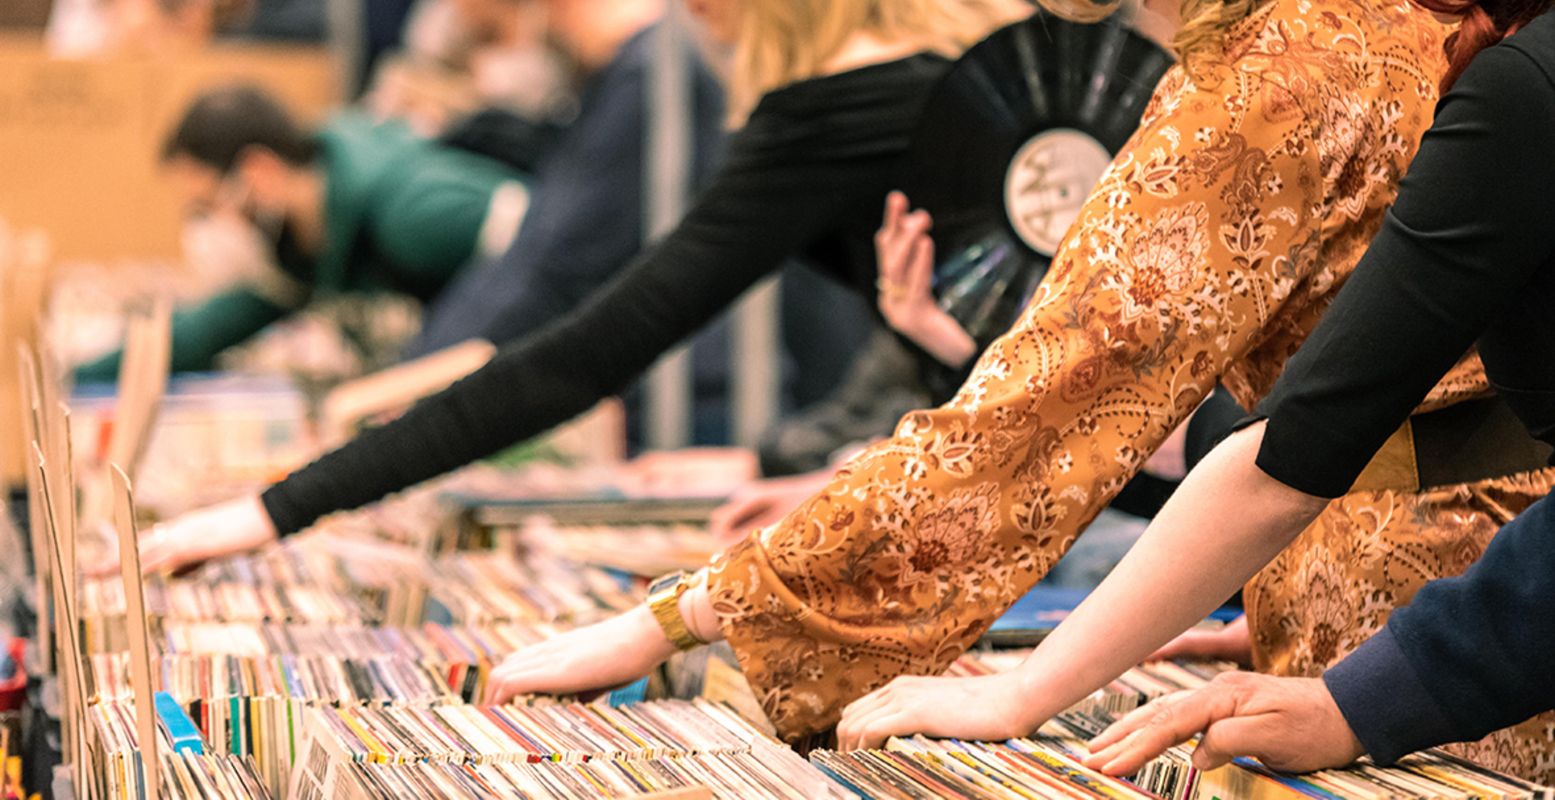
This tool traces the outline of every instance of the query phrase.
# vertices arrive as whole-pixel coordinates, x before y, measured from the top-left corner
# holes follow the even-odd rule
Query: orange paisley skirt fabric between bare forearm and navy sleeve
[[[1253,666],[1316,677],[1382,629],[1426,582],[1460,574],[1501,526],[1555,487],[1539,470],[1420,493],[1353,492],[1247,584]],[[1449,747],[1474,763],[1555,781],[1555,713]]]

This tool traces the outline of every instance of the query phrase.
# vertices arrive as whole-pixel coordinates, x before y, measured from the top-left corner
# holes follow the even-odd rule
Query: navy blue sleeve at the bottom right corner
[[[1555,500],[1432,581],[1323,680],[1378,763],[1555,708]]]

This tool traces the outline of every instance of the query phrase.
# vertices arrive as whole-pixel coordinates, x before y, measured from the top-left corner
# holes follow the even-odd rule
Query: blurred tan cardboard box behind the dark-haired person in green
[[[0,218],[45,230],[64,261],[177,258],[179,209],[157,156],[190,100],[250,81],[316,121],[339,76],[316,47],[61,61],[36,37],[0,36]]]

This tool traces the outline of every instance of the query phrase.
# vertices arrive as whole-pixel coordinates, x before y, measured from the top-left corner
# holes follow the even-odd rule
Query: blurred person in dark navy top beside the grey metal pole
[[[666,0],[538,2],[547,39],[580,76],[577,115],[535,159],[533,190],[518,238],[429,307],[406,358],[471,338],[494,344],[521,339],[574,310],[642,251],[652,202],[648,81]],[[723,149],[723,90],[689,45],[686,58],[692,67],[686,78],[690,179],[703,185]],[[510,135],[515,126],[502,120],[482,115],[445,139],[512,157],[519,149],[512,145],[515,139],[532,139]]]

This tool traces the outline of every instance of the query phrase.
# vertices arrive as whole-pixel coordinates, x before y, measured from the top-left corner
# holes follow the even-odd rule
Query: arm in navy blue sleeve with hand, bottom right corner
[[[1508,523],[1459,577],[1427,584],[1322,680],[1228,672],[1162,697],[1092,742],[1090,767],[1129,775],[1199,738],[1194,766],[1255,756],[1309,772],[1474,741],[1555,707],[1555,503]]]

